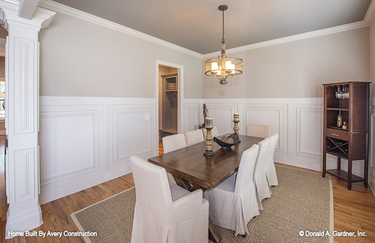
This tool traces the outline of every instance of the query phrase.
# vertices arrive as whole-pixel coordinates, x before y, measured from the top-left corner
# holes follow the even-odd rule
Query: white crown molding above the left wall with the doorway
[[[41,0],[39,2],[39,6],[43,7],[43,8],[46,8],[46,9],[49,9],[49,10],[53,10],[53,11],[57,11],[57,12],[60,12],[60,13],[63,13],[63,14],[67,14],[67,15],[70,15],[72,17],[77,17],[77,18],[89,21],[91,23],[95,23],[95,24],[110,28],[112,30],[119,31],[119,32],[122,32],[122,33],[127,34],[127,35],[132,35],[132,36],[138,37],[140,39],[147,40],[147,41],[150,41],[152,43],[159,44],[161,46],[168,47],[168,48],[171,48],[173,50],[183,52],[183,53],[186,53],[186,54],[198,57],[198,58],[202,58],[202,56],[203,56],[202,54],[200,54],[198,52],[191,51],[189,49],[186,49],[186,48],[180,47],[178,45],[172,44],[168,41],[161,40],[161,39],[156,38],[154,36],[144,34],[142,32],[139,32],[139,31],[130,29],[128,27],[125,27],[121,24],[117,24],[117,23],[111,22],[107,19],[85,13],[83,11],[68,7],[66,5],[54,2],[52,0]]]

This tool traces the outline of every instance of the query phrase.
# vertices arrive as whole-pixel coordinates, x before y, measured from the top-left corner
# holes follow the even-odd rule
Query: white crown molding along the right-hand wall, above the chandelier
[[[226,54],[228,53],[234,53],[234,52],[243,52],[251,49],[257,49],[261,47],[267,47],[267,46],[273,46],[277,44],[282,44],[286,42],[292,42],[296,40],[303,40],[307,38],[312,38],[316,36],[321,36],[321,35],[329,35],[329,34],[334,34],[338,32],[343,32],[343,31],[348,31],[348,30],[354,30],[358,28],[363,28],[369,26],[366,22],[364,21],[359,21],[351,24],[344,24],[344,25],[339,25],[336,27],[331,27],[331,28],[326,28],[322,30],[317,30],[317,31],[311,31],[311,32],[306,32],[303,34],[298,34],[298,35],[290,35],[286,36],[283,38],[278,38],[278,39],[273,39],[273,40],[268,40],[268,41],[263,41],[263,42],[258,42],[246,46],[240,46],[236,48],[231,48],[225,50]],[[208,58],[208,57],[213,57],[220,55],[221,52],[211,52],[203,55],[203,58]]]

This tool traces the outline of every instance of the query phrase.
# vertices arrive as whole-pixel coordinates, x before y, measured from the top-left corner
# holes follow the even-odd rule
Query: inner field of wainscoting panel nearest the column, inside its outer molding
[[[98,169],[97,111],[40,114],[42,186]]]

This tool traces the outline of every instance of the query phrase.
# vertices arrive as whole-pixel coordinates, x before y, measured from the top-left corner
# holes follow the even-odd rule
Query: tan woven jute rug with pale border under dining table
[[[250,220],[250,235],[234,237],[234,231],[216,226],[221,242],[333,242],[333,236],[326,235],[333,231],[331,177],[282,166],[276,166],[276,172],[279,185],[262,201],[260,215]],[[80,231],[97,232],[95,237],[84,237],[87,243],[130,242],[135,197],[131,188],[74,212],[71,218]],[[306,236],[312,232],[315,236]],[[317,236],[321,232],[324,236]]]

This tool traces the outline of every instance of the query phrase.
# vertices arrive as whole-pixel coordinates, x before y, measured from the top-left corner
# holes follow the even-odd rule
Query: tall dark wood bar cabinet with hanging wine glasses
[[[363,181],[368,186],[370,82],[323,84],[323,170],[348,184]],[[327,154],[337,156],[337,169],[326,170]],[[348,160],[348,172],[341,170],[341,158]],[[363,178],[352,174],[353,160],[364,160]]]

